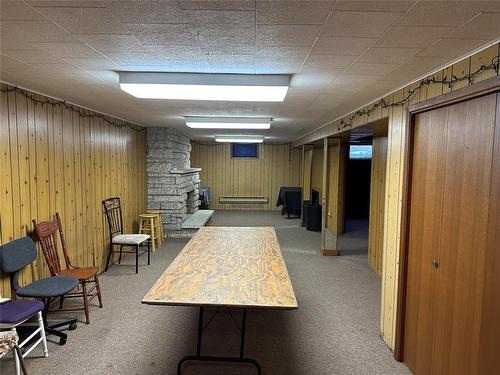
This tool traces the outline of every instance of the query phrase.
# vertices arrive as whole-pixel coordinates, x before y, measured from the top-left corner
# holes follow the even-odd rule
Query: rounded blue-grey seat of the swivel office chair
[[[78,279],[70,276],[54,276],[33,281],[16,290],[21,297],[59,297],[72,291],[79,284]]]

